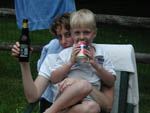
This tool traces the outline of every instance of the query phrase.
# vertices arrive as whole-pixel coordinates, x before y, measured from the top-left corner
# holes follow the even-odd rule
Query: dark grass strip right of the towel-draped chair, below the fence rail
[[[139,113],[150,113],[150,64],[138,64]]]

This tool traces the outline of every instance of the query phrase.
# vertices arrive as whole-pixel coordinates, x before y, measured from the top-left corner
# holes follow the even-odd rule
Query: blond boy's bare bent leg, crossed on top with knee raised
[[[67,87],[53,105],[45,113],[57,113],[86,97],[92,90],[91,84],[86,80],[80,80]]]

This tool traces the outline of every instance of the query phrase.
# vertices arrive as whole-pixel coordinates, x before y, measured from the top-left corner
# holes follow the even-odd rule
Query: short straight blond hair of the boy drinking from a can
[[[73,28],[90,28],[96,29],[95,14],[88,9],[80,9],[73,12],[70,16],[70,26]]]

